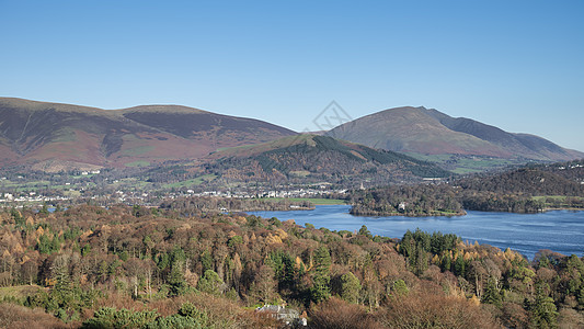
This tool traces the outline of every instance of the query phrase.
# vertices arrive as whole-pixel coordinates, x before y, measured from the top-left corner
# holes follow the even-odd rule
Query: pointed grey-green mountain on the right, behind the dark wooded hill
[[[490,158],[501,160],[501,164],[584,158],[583,152],[562,148],[538,136],[507,133],[425,107],[406,106],[374,113],[340,125],[327,136],[442,161],[450,169],[478,164],[480,170],[485,163],[477,161],[486,162]]]

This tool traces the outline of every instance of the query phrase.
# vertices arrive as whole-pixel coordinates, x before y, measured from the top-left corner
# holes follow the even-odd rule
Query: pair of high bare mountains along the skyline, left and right
[[[233,147],[241,147],[239,156],[257,157],[253,152],[265,149],[266,143],[284,138],[280,144],[285,144],[297,135],[267,122],[179,105],[101,110],[0,98],[1,167],[28,164],[44,171],[148,167],[167,160],[209,160],[211,154]],[[425,107],[381,111],[342,124],[325,136],[363,145],[351,146],[353,151],[368,147],[403,152],[450,170],[465,157],[502,163],[584,158],[583,152],[535,135],[507,133]],[[309,139],[309,144],[316,143],[313,137]],[[266,151],[274,152],[272,147]]]

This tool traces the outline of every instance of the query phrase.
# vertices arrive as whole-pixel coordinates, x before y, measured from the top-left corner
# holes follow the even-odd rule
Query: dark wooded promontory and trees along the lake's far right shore
[[[462,209],[538,213],[548,208],[584,208],[584,184],[557,172],[524,168],[453,179],[447,183],[353,191],[351,213],[449,216],[463,214]]]

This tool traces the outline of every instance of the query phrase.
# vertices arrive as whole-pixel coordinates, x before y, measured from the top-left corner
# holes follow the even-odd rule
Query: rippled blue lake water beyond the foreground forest
[[[509,247],[529,259],[540,249],[563,254],[584,252],[584,212],[553,211],[542,214],[468,212],[458,217],[365,217],[348,214],[348,205],[320,205],[313,211],[250,212],[264,218],[294,219],[330,230],[358,230],[362,225],[374,235],[401,238],[410,229],[456,234],[469,242]]]

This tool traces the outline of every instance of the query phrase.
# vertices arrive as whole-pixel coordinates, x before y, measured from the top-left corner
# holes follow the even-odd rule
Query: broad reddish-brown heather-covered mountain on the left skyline
[[[293,135],[266,122],[178,105],[101,110],[0,98],[2,167],[141,167]]]

